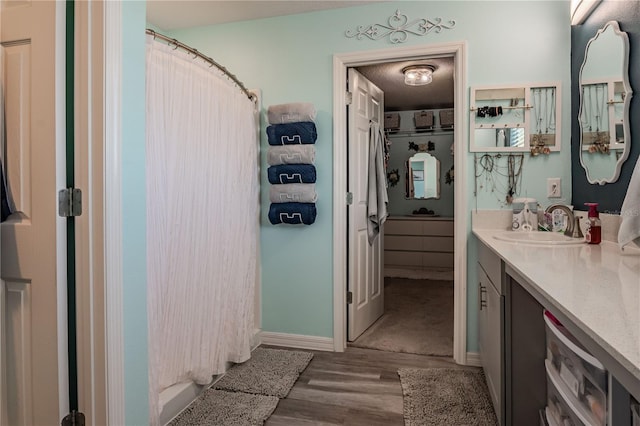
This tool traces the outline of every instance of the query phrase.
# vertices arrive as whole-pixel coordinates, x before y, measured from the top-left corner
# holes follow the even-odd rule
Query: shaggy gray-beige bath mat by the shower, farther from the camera
[[[284,398],[311,358],[309,352],[257,348],[248,361],[234,365],[213,388]]]

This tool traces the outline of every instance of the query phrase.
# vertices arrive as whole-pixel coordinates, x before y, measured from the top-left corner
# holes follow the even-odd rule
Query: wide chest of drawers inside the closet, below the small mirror
[[[453,270],[453,219],[394,216],[384,225],[386,269]]]

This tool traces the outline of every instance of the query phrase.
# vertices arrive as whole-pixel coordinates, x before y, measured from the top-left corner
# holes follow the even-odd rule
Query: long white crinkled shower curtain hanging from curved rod
[[[258,258],[256,107],[200,59],[147,37],[150,423],[159,394],[250,356]]]

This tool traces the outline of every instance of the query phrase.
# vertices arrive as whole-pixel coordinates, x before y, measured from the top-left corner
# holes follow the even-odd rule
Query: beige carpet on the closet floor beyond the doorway
[[[385,312],[350,346],[453,356],[453,281],[385,278]]]

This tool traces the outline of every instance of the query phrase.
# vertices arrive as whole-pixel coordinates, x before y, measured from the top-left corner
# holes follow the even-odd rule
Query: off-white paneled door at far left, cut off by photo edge
[[[0,10],[4,166],[15,206],[0,226],[5,363],[0,420],[9,425],[60,424],[60,400],[66,397],[59,395],[66,377],[58,371],[56,287],[57,3],[3,1]]]

